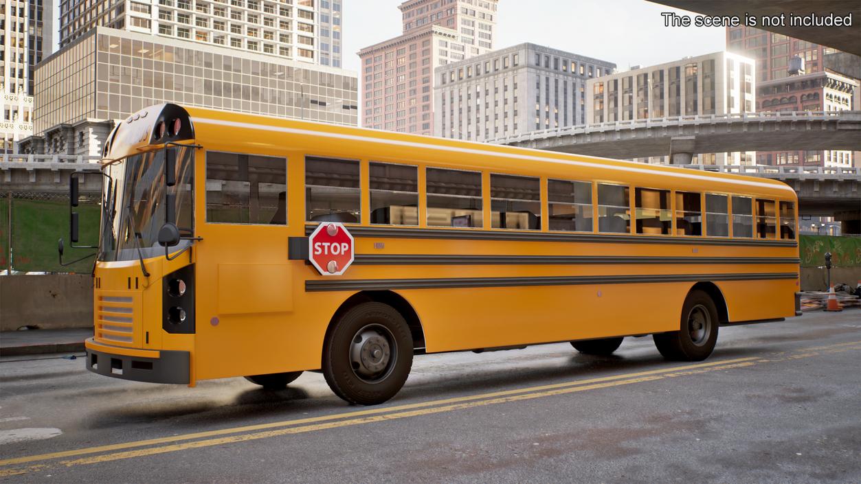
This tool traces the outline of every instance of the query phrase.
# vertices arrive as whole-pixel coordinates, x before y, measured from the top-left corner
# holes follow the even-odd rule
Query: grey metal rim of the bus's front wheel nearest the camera
[[[350,366],[366,383],[379,383],[392,372],[398,344],[391,331],[381,324],[369,324],[356,331],[350,343]]]

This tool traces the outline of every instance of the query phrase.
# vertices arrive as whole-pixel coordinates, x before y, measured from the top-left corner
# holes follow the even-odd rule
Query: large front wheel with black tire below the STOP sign
[[[329,388],[345,401],[387,401],[404,386],[412,368],[410,328],[387,304],[359,304],[331,328],[322,366]]]

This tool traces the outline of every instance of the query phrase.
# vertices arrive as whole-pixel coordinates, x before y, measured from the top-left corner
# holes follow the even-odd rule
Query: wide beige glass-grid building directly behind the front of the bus
[[[116,120],[160,102],[356,126],[356,75],[263,53],[96,27],[36,70],[22,152],[97,156]]]

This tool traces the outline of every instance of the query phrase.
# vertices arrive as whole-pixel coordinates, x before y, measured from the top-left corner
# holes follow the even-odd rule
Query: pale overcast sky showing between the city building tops
[[[402,0],[344,0],[344,69],[356,52],[401,34]],[[661,12],[692,15],[646,0],[499,0],[494,47],[522,42],[616,63],[617,70],[722,51],[725,28],[664,27]]]

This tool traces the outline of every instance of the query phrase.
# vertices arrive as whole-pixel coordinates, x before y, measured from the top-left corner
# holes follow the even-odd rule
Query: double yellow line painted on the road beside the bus
[[[854,345],[854,346],[853,346]],[[836,345],[830,346],[817,346],[817,349],[830,350],[826,353],[833,352],[844,352],[850,351],[854,349],[861,349],[861,341],[853,341],[849,343],[840,343]],[[820,352],[810,352],[808,349],[802,350],[802,353],[796,353],[799,358],[809,358],[812,356],[816,356],[821,354]],[[272,438],[282,435],[289,434],[297,434],[297,433],[305,433],[305,432],[315,432],[325,429],[338,428],[344,426],[356,426],[374,422],[381,422],[386,420],[397,420],[403,419],[407,417],[419,416],[419,415],[427,415],[427,414],[438,414],[442,412],[450,412],[454,410],[460,410],[463,408],[470,407],[483,407],[492,404],[505,403],[511,401],[523,401],[530,400],[534,398],[540,398],[550,395],[563,395],[574,392],[580,392],[591,389],[604,389],[610,387],[616,387],[631,383],[644,383],[656,380],[663,380],[666,378],[672,377],[684,377],[689,375],[695,375],[700,373],[705,373],[709,371],[721,371],[728,370],[734,368],[741,367],[749,367],[753,365],[759,365],[762,363],[769,362],[777,362],[777,361],[785,361],[790,359],[796,359],[796,355],[790,355],[784,358],[759,358],[759,357],[751,357],[751,358],[734,358],[723,361],[711,362],[707,364],[697,364],[697,365],[684,365],[684,366],[676,366],[673,368],[666,368],[660,370],[653,371],[640,371],[633,372],[623,375],[615,375],[610,377],[598,377],[591,378],[587,380],[579,380],[573,382],[566,383],[554,383],[549,385],[542,385],[536,387],[530,387],[525,389],[511,389],[504,390],[499,392],[492,392],[481,395],[468,395],[463,397],[455,397],[437,401],[427,401],[427,402],[419,402],[408,405],[400,405],[395,407],[386,407],[386,408],[371,408],[368,410],[362,410],[357,412],[349,412],[342,414],[332,414],[332,415],[323,415],[319,417],[312,417],[307,419],[297,419],[297,420],[285,420],[282,422],[272,422],[269,424],[260,424],[256,426],[243,426],[243,427],[234,427],[230,429],[221,429],[217,431],[209,431],[209,432],[195,432],[191,434],[185,434],[180,436],[173,436],[170,438],[155,438],[150,440],[141,440],[136,442],[128,442],[122,444],[112,444],[112,445],[102,445],[99,447],[91,447],[77,450],[66,450],[62,452],[54,452],[50,454],[42,454],[37,456],[25,456],[18,457],[14,459],[6,459],[0,461],[0,466],[11,465],[15,463],[28,463],[34,461],[43,461],[55,458],[61,458],[66,456],[82,456],[86,454],[92,454],[97,452],[106,452],[110,450],[123,450],[130,449],[133,447],[142,447],[146,445],[156,445],[156,444],[169,444],[175,443],[178,441],[189,440],[193,438],[205,438],[205,437],[213,437],[218,435],[226,435],[230,433],[237,432],[249,432],[242,435],[231,435],[227,437],[220,438],[206,438],[197,440],[195,442],[186,442],[181,444],[170,444],[163,446],[150,447],[146,449],[138,449],[138,450],[126,450],[121,452],[114,452],[108,454],[102,454],[100,456],[89,456],[78,458],[74,460],[66,460],[61,461],[59,464],[65,465],[67,467],[81,465],[81,464],[91,464],[91,463],[103,463],[109,461],[115,461],[119,459],[140,457],[140,456],[152,456],[157,454],[163,454],[167,452],[174,452],[180,450],[190,450],[202,447],[209,447],[213,445],[220,444],[231,444],[237,442],[245,442],[249,440],[256,440],[259,438]],[[433,405],[437,405],[437,407],[431,407]],[[428,408],[423,408],[428,407]],[[338,420],[344,419],[344,420]],[[338,420],[338,421],[330,421],[325,422],[325,420]],[[325,423],[319,423],[325,422]],[[310,425],[307,425],[310,424]],[[288,426],[288,428],[276,428]],[[273,429],[275,430],[266,430]],[[250,431],[263,431],[263,432],[250,432]],[[31,465],[26,468],[20,469],[6,469],[0,470],[0,476],[4,475],[22,475],[29,472],[34,472],[39,469],[43,469],[47,464],[36,464]]]

